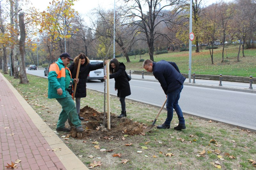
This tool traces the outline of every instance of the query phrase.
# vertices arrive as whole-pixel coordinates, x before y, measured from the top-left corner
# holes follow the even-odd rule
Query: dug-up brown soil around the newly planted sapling
[[[108,116],[106,113],[105,125],[103,126],[104,113],[100,113],[95,109],[85,106],[80,109],[80,116],[84,117],[82,126],[84,131],[82,132],[83,138],[92,138],[100,140],[106,139],[121,139],[125,134],[127,135],[139,135],[143,133],[145,124],[139,122],[133,122],[127,117],[117,118],[117,115],[110,114],[110,129],[108,129]],[[72,129],[71,133],[74,131]]]

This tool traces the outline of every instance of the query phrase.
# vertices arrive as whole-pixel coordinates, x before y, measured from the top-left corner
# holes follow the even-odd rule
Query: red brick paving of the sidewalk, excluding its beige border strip
[[[18,169],[66,169],[0,74],[0,169],[16,159]]]

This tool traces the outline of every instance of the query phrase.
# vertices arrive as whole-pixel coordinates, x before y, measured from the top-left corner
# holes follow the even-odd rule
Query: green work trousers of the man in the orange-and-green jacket
[[[62,106],[62,111],[60,112],[59,120],[57,123],[57,128],[64,128],[65,122],[69,119],[75,128],[82,126],[81,121],[78,118],[76,112],[76,105],[72,96],[66,91],[68,97],[56,99]]]

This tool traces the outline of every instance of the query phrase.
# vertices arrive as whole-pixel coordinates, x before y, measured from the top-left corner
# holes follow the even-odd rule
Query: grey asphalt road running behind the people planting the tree
[[[44,76],[44,70],[26,70],[27,73]],[[110,94],[116,95],[114,79],[110,79]],[[100,80],[89,81],[87,88],[104,91]],[[158,82],[131,80],[132,94],[128,99],[162,106],[165,94]],[[179,105],[183,112],[225,122],[232,125],[256,129],[256,94],[184,85]]]

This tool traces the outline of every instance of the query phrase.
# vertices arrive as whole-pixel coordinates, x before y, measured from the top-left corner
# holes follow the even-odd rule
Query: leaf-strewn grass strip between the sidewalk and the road
[[[56,128],[60,104],[55,99],[47,99],[48,80],[27,75],[29,84],[19,84],[19,79],[4,75],[17,89],[30,106],[47,122],[53,130]],[[120,101],[111,96],[111,112],[119,115]],[[103,94],[87,89],[87,97],[81,99],[81,108],[88,105],[99,112],[103,111]],[[127,118],[150,125],[159,108],[142,103],[126,100]],[[101,161],[101,166],[94,169],[255,169],[247,159],[256,160],[256,134],[250,131],[233,128],[231,126],[209,122],[193,116],[184,115],[187,129],[176,131],[174,124],[178,123],[174,114],[171,129],[153,129],[143,135],[127,136],[100,142],[100,149],[113,150],[101,152],[94,148],[93,140],[85,141],[70,138],[64,141],[67,146],[89,167],[93,161]],[[166,118],[166,111],[162,111],[156,124],[161,124]],[[90,120],[89,120],[90,121]],[[62,135],[67,133],[58,134]],[[130,144],[125,146],[124,144]],[[141,146],[147,146],[143,150]],[[142,151],[137,153],[137,151]],[[204,152],[205,151],[205,152]],[[219,153],[220,152],[220,153]],[[113,157],[112,154],[121,153],[122,156]],[[166,156],[166,154],[171,157]],[[93,158],[88,156],[92,155]],[[82,158],[80,157],[82,156]],[[126,164],[121,160],[129,159]],[[75,168],[75,167],[74,167]]]

